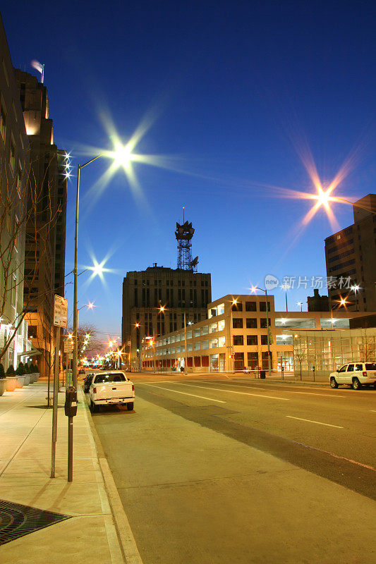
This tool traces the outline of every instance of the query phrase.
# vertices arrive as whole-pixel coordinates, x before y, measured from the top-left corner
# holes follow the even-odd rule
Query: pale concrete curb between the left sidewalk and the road
[[[92,438],[94,439],[95,448],[97,450],[99,466],[104,481],[104,487],[106,488],[107,496],[109,498],[109,505],[114,517],[116,533],[118,535],[121,551],[123,553],[124,562],[126,562],[126,564],[142,564],[142,558],[140,556],[140,553],[138,552],[131,525],[129,524],[126,512],[124,511],[123,503],[121,503],[119,491],[116,488],[114,477],[112,476],[109,463],[107,462],[107,458],[104,454],[97,429],[95,429],[95,424],[92,420],[92,414],[90,412],[89,406],[87,405],[83,388],[79,388],[79,393],[80,400],[84,404],[85,410],[87,411],[87,421],[89,422],[90,431],[92,431]]]

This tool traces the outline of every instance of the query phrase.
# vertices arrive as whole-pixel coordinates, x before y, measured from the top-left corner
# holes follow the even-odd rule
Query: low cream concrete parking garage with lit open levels
[[[207,319],[144,341],[141,368],[233,372],[268,368],[267,324],[273,370],[293,370],[293,338],[298,331],[340,331],[360,312],[275,312],[268,295],[226,295],[207,307]],[[372,314],[370,314],[372,315]]]

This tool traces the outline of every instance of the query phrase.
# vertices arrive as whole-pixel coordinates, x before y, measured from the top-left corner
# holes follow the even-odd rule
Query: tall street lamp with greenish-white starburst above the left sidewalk
[[[77,365],[78,365],[78,345],[77,345],[77,331],[78,331],[78,309],[77,309],[77,278],[78,278],[78,207],[80,203],[80,171],[81,168],[85,168],[88,164],[96,161],[102,157],[110,157],[114,159],[115,163],[119,166],[122,164],[129,164],[132,160],[131,149],[128,145],[122,147],[119,145],[116,147],[114,152],[106,152],[97,155],[94,159],[90,159],[85,164],[77,165],[77,190],[75,195],[75,252],[74,252],[74,268],[73,268],[73,386],[77,389]]]

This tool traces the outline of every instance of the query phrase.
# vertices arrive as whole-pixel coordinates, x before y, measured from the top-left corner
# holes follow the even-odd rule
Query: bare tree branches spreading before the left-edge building
[[[32,165],[25,164],[13,173],[0,157],[0,317],[8,319],[11,326],[0,350],[0,361],[16,337],[30,302],[42,297],[37,293],[35,281],[40,264],[51,250],[49,236],[61,213],[45,181],[49,165],[40,184]],[[25,255],[19,252],[24,242],[28,247]],[[23,294],[23,308],[17,308],[17,293]],[[10,305],[16,310],[13,319],[8,314]]]

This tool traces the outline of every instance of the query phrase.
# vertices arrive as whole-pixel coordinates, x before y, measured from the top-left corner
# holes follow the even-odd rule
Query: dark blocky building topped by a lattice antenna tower
[[[127,272],[123,279],[121,341],[126,366],[139,368],[140,348],[145,337],[157,337],[207,319],[212,301],[211,275],[197,271],[198,257],[192,258],[192,223],[176,223],[177,268],[149,266]]]

